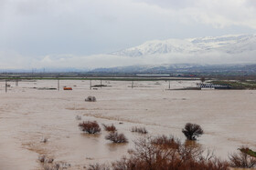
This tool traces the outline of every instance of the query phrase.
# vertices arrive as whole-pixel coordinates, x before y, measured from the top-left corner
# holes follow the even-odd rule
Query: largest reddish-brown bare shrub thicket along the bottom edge
[[[215,156],[203,156],[203,150],[181,145],[165,135],[134,142],[130,156],[112,163],[113,170],[228,170],[229,164]]]

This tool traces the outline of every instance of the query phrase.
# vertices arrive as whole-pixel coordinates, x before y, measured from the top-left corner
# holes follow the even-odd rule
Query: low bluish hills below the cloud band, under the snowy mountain
[[[256,75],[256,65],[132,65],[112,68],[97,68],[91,72],[98,73],[193,73],[193,74],[227,74],[227,75]]]

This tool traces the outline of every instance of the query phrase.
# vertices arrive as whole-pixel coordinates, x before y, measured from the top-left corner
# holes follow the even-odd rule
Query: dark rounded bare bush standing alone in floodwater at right
[[[187,140],[197,140],[197,137],[204,134],[200,125],[187,123],[182,133],[187,137]]]

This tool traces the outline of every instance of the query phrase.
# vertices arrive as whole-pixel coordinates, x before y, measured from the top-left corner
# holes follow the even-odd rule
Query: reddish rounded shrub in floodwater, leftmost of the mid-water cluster
[[[86,121],[79,124],[80,130],[88,134],[96,134],[101,132],[101,127],[96,121]]]

